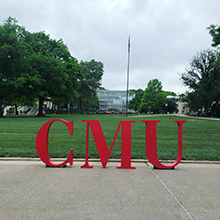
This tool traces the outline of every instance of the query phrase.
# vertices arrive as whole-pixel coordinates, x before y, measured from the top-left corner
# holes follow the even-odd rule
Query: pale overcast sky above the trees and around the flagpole
[[[0,23],[8,16],[30,32],[62,38],[79,62],[103,62],[109,90],[126,90],[130,35],[129,88],[145,89],[157,78],[178,94],[187,89],[178,73],[211,48],[206,28],[220,24],[220,1],[0,0]]]

